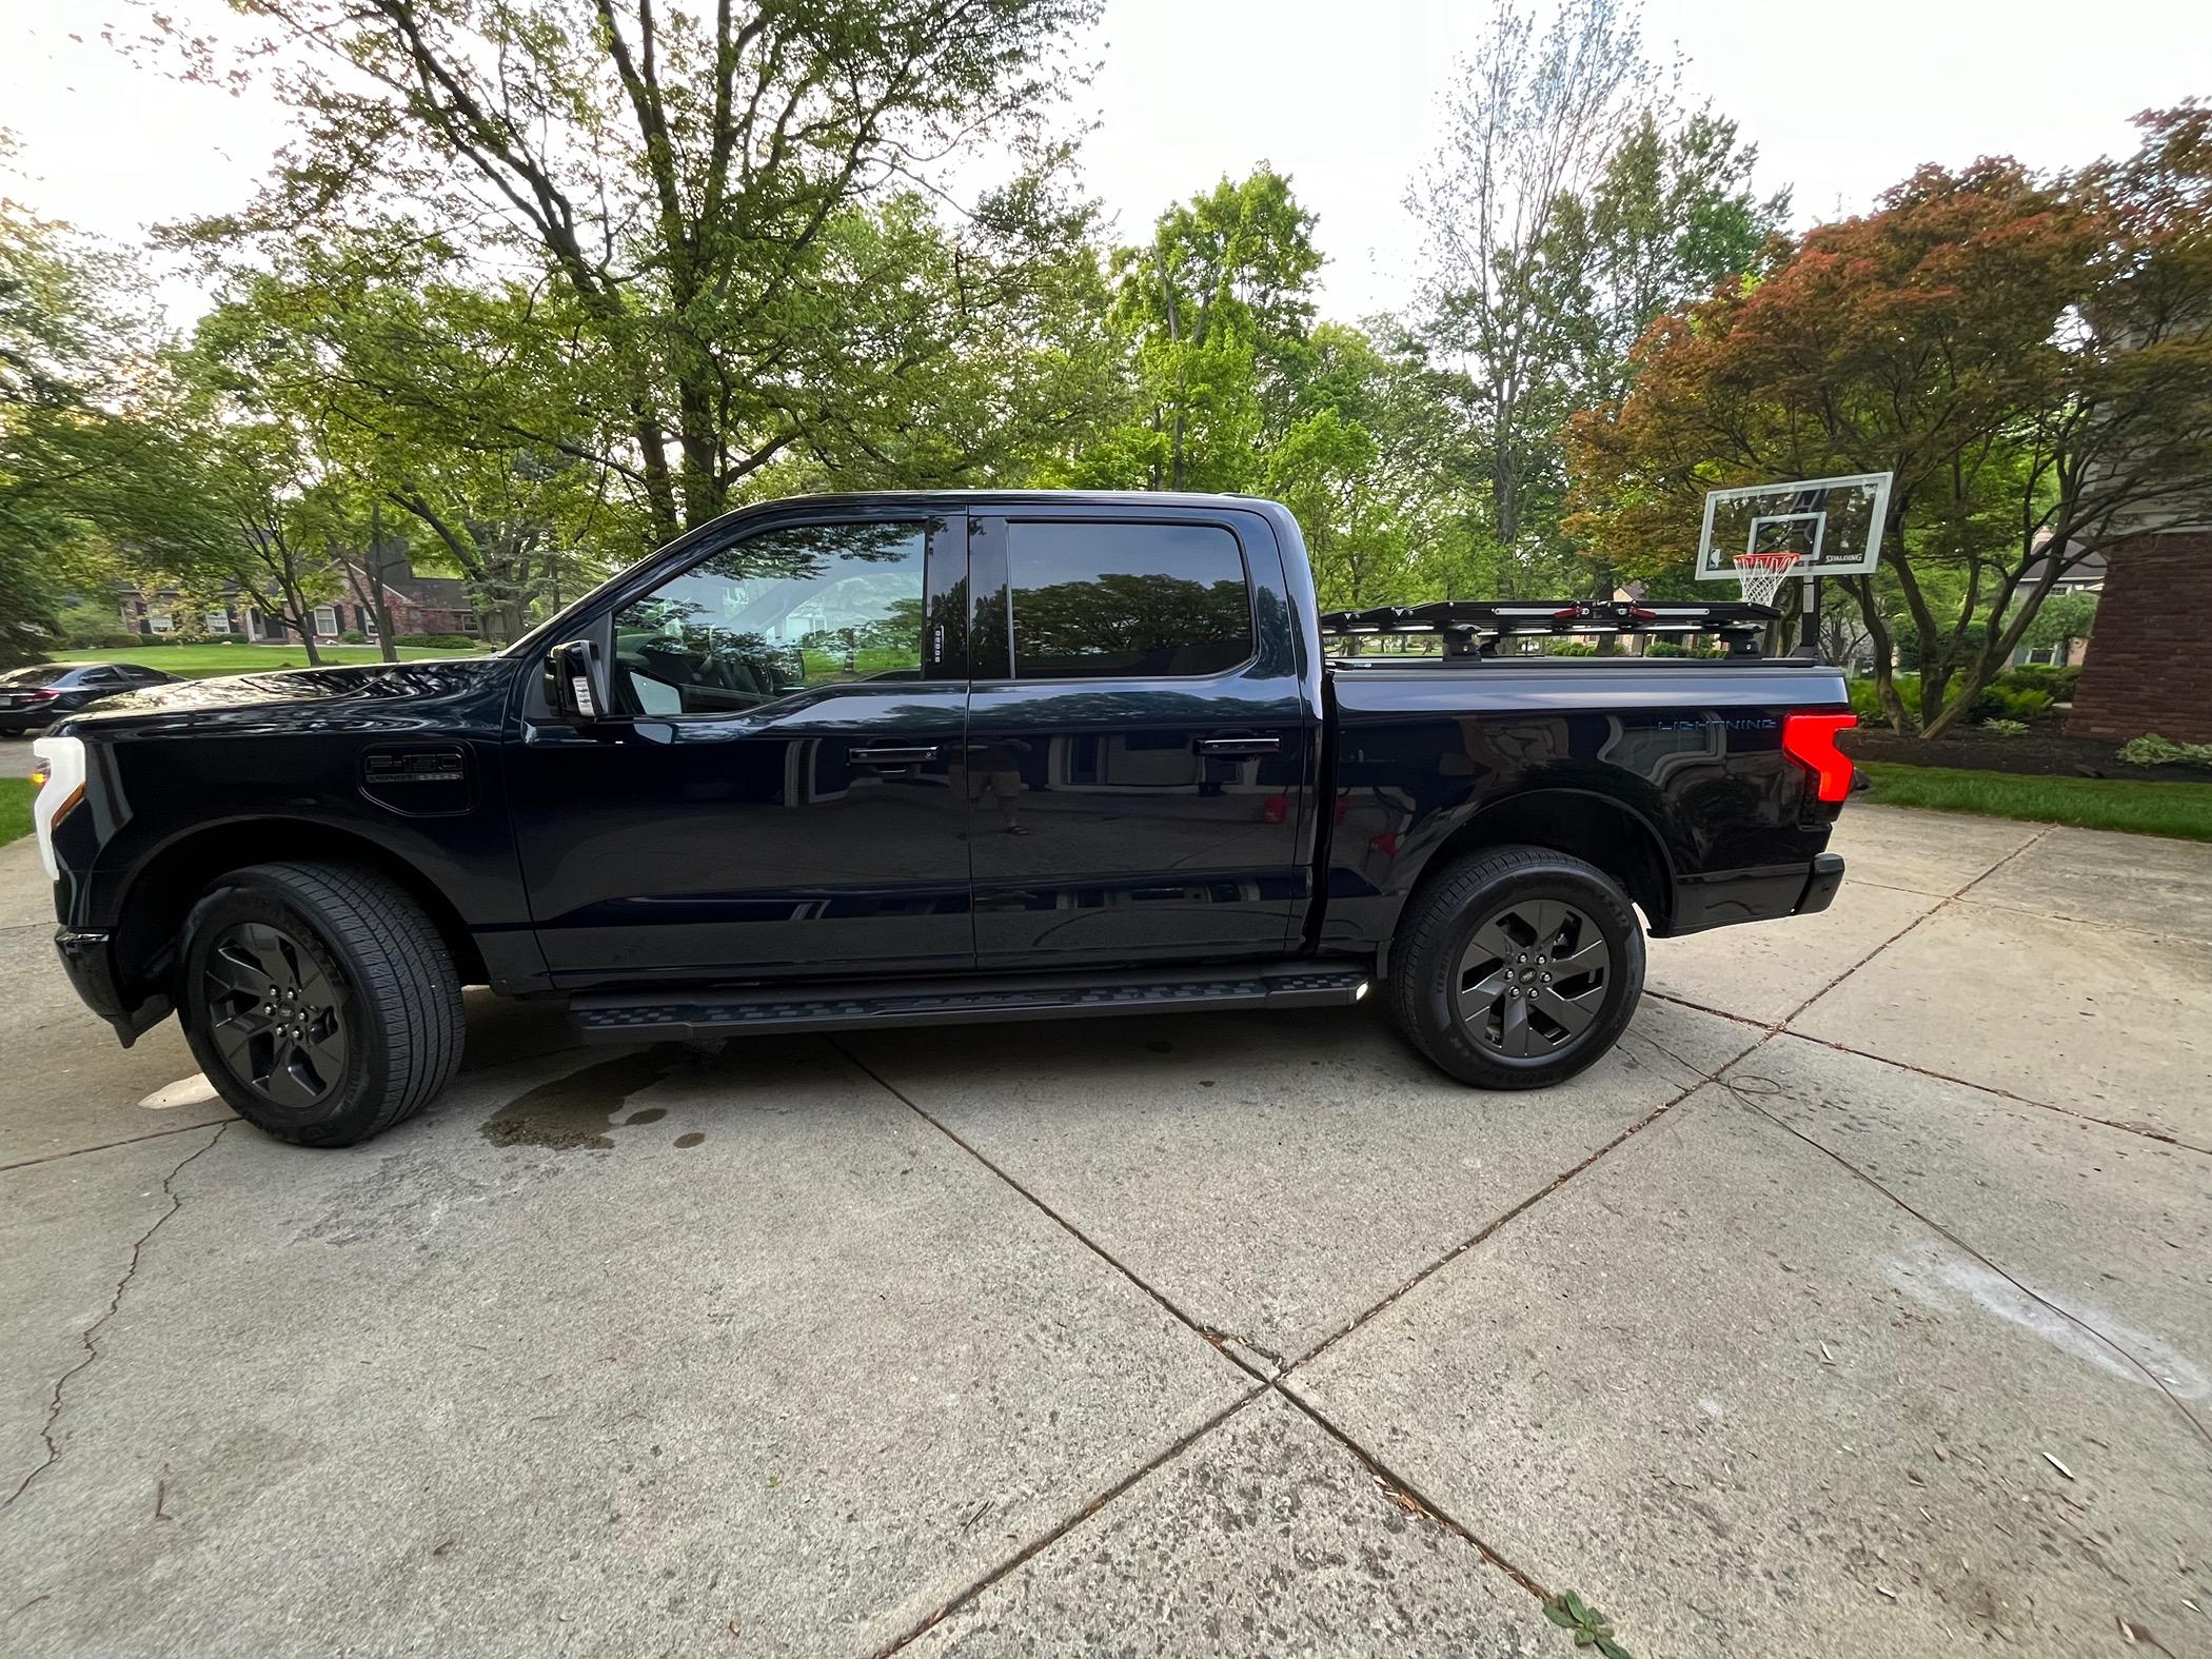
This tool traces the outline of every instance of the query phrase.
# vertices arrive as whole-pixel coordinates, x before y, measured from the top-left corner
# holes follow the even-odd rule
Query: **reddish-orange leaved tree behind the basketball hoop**
[[[1900,624],[1920,730],[1962,719],[2057,580],[2203,513],[2212,478],[2212,111],[2075,179],[1922,168],[1874,215],[1778,241],[1756,281],[1663,319],[1577,416],[1577,529],[1683,562],[1723,484],[1893,471],[1882,564],[1843,580],[1891,721]]]

